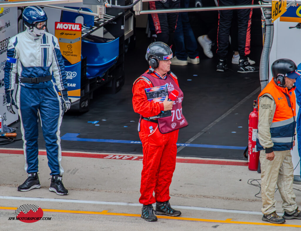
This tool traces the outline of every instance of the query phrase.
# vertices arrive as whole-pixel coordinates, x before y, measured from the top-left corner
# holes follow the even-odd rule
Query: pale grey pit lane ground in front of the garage
[[[254,197],[259,188],[247,184],[250,178],[260,179],[260,174],[247,166],[177,163],[170,203],[181,208],[182,216],[175,220],[160,216],[157,222],[147,222],[140,218],[138,204],[142,161],[63,156],[67,196],[48,191],[50,176],[45,155],[39,155],[42,187],[28,192],[17,191],[17,185],[26,179],[24,156],[2,153],[0,161],[1,230],[284,230],[284,226],[261,220],[261,199]],[[299,185],[294,188],[301,189]],[[301,192],[294,192],[300,206]],[[278,192],[275,198],[280,214]],[[44,217],[51,220],[29,224],[8,220],[23,204],[41,207]],[[285,230],[301,227],[298,220],[287,220],[284,225]]]

